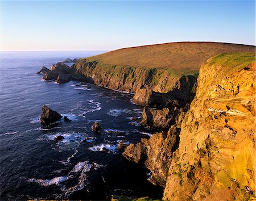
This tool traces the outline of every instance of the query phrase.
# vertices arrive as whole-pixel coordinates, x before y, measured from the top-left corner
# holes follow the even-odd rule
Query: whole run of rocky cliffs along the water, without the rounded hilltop
[[[229,60],[230,65],[223,62]],[[163,68],[148,70],[87,60],[78,60],[71,67],[53,64],[40,73],[45,73],[44,80],[57,83],[77,80],[135,93],[133,102],[144,106],[139,123],[159,132],[130,144],[123,156],[151,171],[150,181],[165,188],[164,200],[215,199],[222,198],[224,192],[226,199],[245,200],[255,197],[254,155],[240,147],[246,141],[253,153],[254,69],[253,53],[218,55],[202,64],[198,87],[197,73],[177,76]],[[251,122],[247,131],[237,128],[238,122],[246,121]],[[237,160],[250,163],[236,170]]]

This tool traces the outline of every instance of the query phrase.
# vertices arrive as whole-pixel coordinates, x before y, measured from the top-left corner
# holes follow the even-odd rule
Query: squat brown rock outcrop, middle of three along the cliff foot
[[[141,125],[150,125],[155,128],[168,128],[171,123],[174,123],[174,118],[168,108],[156,109],[144,107],[142,113]]]

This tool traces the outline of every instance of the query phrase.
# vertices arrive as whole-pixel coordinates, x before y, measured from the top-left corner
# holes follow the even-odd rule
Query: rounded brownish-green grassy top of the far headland
[[[251,45],[179,42],[123,48],[88,57],[86,61],[141,68],[168,68],[177,74],[198,71],[202,62],[221,53],[255,52]]]

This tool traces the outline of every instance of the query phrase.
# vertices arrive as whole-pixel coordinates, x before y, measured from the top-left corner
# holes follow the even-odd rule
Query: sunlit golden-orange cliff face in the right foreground
[[[181,124],[164,200],[255,196],[255,54],[210,58]]]

